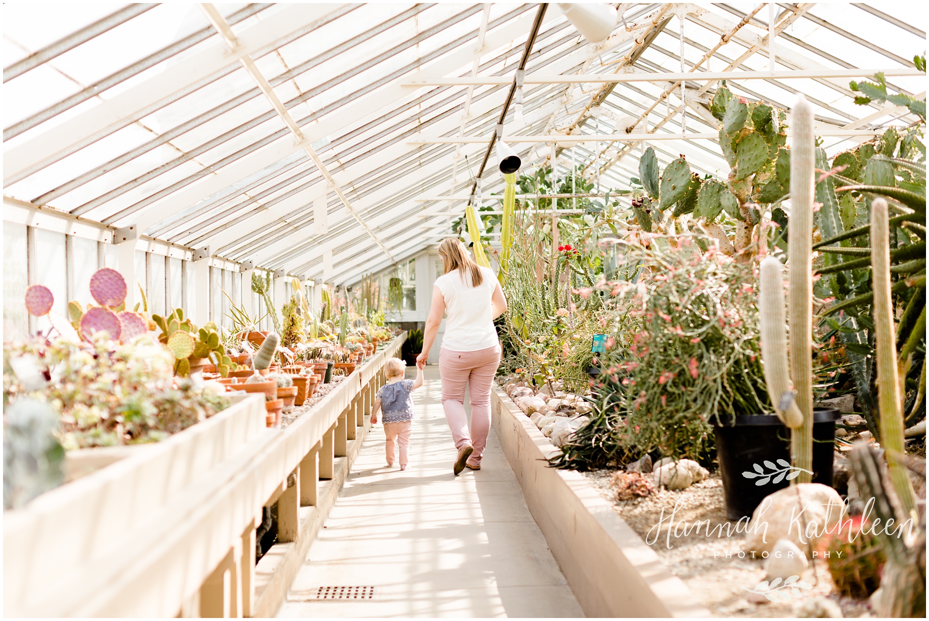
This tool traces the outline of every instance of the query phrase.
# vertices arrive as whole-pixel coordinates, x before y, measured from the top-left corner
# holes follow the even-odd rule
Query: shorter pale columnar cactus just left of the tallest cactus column
[[[767,394],[778,418],[791,429],[804,422],[804,415],[791,397],[790,366],[787,361],[787,320],[784,315],[784,286],[780,262],[773,256],[761,262],[759,318],[761,358],[765,363]],[[782,409],[786,406],[786,409]]]

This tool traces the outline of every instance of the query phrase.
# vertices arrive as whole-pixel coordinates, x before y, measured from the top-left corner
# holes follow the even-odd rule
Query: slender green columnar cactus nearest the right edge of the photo
[[[871,285],[874,290],[874,344],[877,358],[878,412],[881,444],[886,449],[887,466],[896,496],[904,511],[916,518],[916,495],[909,472],[901,461],[906,453],[900,382],[896,369],[894,302],[890,294],[890,226],[887,201],[871,202]]]

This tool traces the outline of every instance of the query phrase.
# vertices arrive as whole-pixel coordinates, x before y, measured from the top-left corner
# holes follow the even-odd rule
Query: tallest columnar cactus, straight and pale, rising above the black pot
[[[797,483],[813,472],[813,192],[816,139],[813,107],[803,95],[791,110],[791,234],[788,238],[788,296],[791,327],[791,378],[804,420],[791,433],[791,461],[803,469]],[[771,395],[774,399],[774,395]]]

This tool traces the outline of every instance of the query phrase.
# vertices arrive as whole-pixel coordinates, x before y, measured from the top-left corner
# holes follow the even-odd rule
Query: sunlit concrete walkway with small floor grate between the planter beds
[[[427,367],[406,472],[386,467],[383,426],[368,435],[278,616],[583,615],[492,430],[481,470],[452,475],[440,399]],[[334,586],[374,599],[313,599]]]

